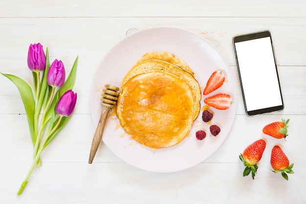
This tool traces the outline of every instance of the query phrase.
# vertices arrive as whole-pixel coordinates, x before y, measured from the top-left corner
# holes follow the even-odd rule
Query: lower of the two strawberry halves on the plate
[[[232,97],[226,93],[219,93],[208,98],[204,99],[204,103],[207,105],[219,109],[219,110],[226,110],[231,107],[233,101]]]

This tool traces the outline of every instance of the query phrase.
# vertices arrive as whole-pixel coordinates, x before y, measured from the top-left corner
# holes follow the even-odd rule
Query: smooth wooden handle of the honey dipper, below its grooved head
[[[96,155],[97,149],[99,147],[102,135],[103,135],[103,130],[104,130],[104,125],[105,121],[107,118],[107,115],[109,113],[109,110],[112,108],[112,105],[108,104],[103,104],[102,105],[102,113],[100,116],[100,120],[96,129],[96,132],[94,133],[93,139],[92,139],[92,144],[91,144],[91,149],[90,149],[90,154],[89,154],[89,160],[88,163],[92,163],[92,160],[94,156]]]

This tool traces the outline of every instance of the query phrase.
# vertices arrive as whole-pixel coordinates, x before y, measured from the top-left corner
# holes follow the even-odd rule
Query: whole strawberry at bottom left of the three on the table
[[[243,176],[247,176],[252,172],[252,178],[254,180],[255,174],[257,172],[257,163],[262,159],[262,153],[265,149],[266,142],[263,139],[259,139],[252,144],[250,144],[242,154],[240,154],[239,159],[243,162],[245,169],[243,171]]]

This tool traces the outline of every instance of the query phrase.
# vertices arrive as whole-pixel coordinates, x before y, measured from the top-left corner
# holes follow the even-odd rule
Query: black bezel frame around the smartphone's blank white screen
[[[244,98],[244,91],[243,91],[243,85],[242,85],[242,80],[241,80],[241,76],[240,76],[240,68],[239,68],[239,62],[238,62],[238,58],[237,58],[235,43],[260,39],[260,38],[264,38],[264,37],[269,37],[270,41],[271,41],[271,46],[272,46],[272,51],[273,51],[273,56],[274,56],[274,64],[275,64],[275,69],[276,69],[276,74],[277,74],[277,80],[278,80],[281,99],[282,99],[282,105],[274,106],[274,107],[268,107],[268,108],[259,109],[259,110],[247,111],[247,106],[246,106],[246,102],[245,102],[245,98]],[[278,74],[278,70],[277,70],[277,63],[276,63],[276,58],[275,58],[274,46],[273,46],[273,43],[272,43],[272,37],[271,37],[270,31],[265,30],[265,31],[255,32],[255,33],[248,33],[248,34],[244,34],[244,35],[234,36],[233,37],[233,45],[234,45],[234,52],[235,52],[237,69],[238,69],[238,74],[239,74],[240,87],[241,87],[241,92],[242,92],[242,97],[243,97],[243,104],[244,104],[245,113],[249,116],[252,116],[252,115],[257,115],[257,114],[270,113],[270,112],[274,112],[274,111],[284,110],[283,94],[282,94],[282,90],[281,90],[281,84],[280,84],[279,74]]]

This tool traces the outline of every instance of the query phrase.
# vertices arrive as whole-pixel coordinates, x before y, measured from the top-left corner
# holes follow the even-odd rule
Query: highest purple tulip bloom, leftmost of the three
[[[31,71],[43,71],[45,69],[45,55],[43,45],[40,43],[30,45],[28,51],[28,67]]]

